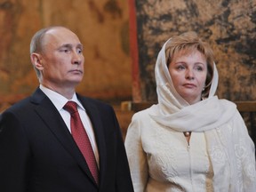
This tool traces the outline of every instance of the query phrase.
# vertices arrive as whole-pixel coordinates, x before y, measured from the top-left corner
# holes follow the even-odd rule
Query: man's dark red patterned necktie
[[[67,110],[71,116],[70,126],[72,136],[76,141],[78,148],[82,152],[94,180],[97,184],[99,184],[99,173],[96,159],[92,150],[91,142],[88,138],[87,133],[85,132],[84,125],[77,111],[76,102],[68,101],[64,106],[64,109]]]

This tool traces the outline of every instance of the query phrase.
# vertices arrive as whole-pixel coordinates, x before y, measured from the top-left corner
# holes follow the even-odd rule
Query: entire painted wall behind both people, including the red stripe
[[[157,53],[187,30],[212,44],[219,97],[256,100],[256,0],[0,0],[0,112],[36,89],[29,43],[52,25],[80,37],[85,74],[78,92],[113,104],[124,135],[132,112],[119,103],[156,100]]]

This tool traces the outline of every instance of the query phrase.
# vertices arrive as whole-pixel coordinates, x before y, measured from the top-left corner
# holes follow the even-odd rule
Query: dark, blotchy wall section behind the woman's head
[[[220,73],[219,97],[256,100],[255,0],[130,2],[136,7],[140,71],[140,86],[133,86],[135,101],[156,100],[157,54],[167,39],[188,30],[212,45]]]

